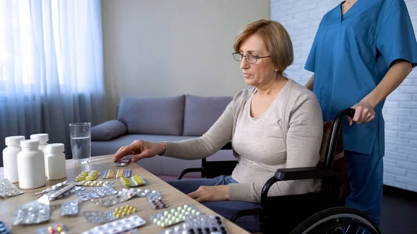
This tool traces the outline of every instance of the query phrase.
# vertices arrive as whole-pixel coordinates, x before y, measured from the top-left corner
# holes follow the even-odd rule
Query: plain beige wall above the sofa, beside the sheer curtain
[[[102,0],[108,118],[122,95],[234,95],[239,29],[270,19],[269,0]]]

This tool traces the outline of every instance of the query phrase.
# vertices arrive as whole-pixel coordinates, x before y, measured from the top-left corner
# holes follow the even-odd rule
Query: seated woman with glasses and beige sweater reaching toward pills
[[[293,46],[278,22],[259,20],[243,28],[234,44],[243,77],[253,88],[238,92],[213,126],[196,139],[179,142],[136,140],[115,153],[114,160],[133,154],[133,162],[156,155],[185,160],[206,158],[233,143],[238,165],[231,176],[170,181],[170,185],[223,217],[259,207],[263,184],[279,168],[314,167],[322,140],[322,111],[316,96],[283,75],[293,62]],[[284,181],[270,195],[304,194],[316,181]],[[256,217],[238,223],[258,231]]]

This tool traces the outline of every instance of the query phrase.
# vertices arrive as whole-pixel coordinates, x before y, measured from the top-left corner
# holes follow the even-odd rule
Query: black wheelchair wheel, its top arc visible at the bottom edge
[[[347,207],[328,208],[311,215],[290,234],[381,234],[378,226],[359,210]]]

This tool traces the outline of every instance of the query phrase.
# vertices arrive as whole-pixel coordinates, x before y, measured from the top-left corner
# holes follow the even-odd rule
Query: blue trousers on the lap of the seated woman
[[[215,185],[229,185],[229,183],[238,183],[231,176],[218,176],[216,178],[202,178],[192,180],[178,180],[167,181],[170,185],[177,188],[177,190],[188,194],[194,192],[200,186],[215,186]],[[222,217],[229,219],[231,215],[239,210],[259,208],[259,203],[252,203],[247,201],[206,201],[202,203],[207,208],[218,213]],[[259,215],[251,215],[241,217],[236,221],[236,225],[249,231],[250,233],[260,232]]]

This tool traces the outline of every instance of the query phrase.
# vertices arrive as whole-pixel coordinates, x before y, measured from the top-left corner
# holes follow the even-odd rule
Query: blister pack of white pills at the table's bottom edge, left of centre
[[[101,226],[96,226],[91,228],[89,231],[83,232],[81,234],[97,234],[97,233],[123,233],[125,231],[131,230],[133,228],[138,228],[146,224],[145,219],[142,219],[138,215],[133,215],[124,219],[116,220],[108,224]]]

